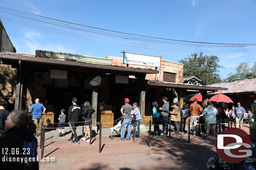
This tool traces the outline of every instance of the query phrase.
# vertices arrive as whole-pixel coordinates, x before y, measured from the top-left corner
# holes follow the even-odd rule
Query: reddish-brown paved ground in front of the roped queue
[[[248,127],[243,124],[247,133]],[[205,170],[209,157],[216,154],[212,137],[206,141],[191,135],[188,143],[188,135],[183,133],[172,134],[171,138],[153,138],[149,148],[147,130],[145,127],[135,141],[117,142],[119,136],[111,140],[110,129],[102,129],[101,153],[98,134],[92,145],[82,140],[79,145],[73,145],[67,141],[71,136],[68,128],[65,137],[58,137],[57,130],[46,132],[44,157],[55,157],[55,162],[40,162],[40,170]],[[81,128],[77,132],[79,136]],[[38,155],[41,156],[40,149]]]

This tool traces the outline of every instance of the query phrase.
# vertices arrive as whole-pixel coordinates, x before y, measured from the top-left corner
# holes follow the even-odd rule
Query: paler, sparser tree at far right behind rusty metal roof
[[[246,79],[255,79],[256,78],[256,62],[253,64],[252,67],[249,66],[248,63],[240,63],[236,66],[236,73],[230,73],[227,75],[227,78],[224,79],[225,82],[232,82],[232,81],[240,81]]]

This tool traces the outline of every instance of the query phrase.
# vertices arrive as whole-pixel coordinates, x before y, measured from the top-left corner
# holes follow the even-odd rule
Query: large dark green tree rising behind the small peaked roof
[[[206,56],[200,53],[192,53],[190,56],[179,60],[183,63],[183,77],[195,76],[201,80],[202,85],[221,83],[219,76],[219,58],[217,56]]]

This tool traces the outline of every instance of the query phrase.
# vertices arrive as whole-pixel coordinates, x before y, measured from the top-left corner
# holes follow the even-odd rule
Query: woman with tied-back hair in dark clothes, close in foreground
[[[10,112],[5,120],[6,134],[0,139],[0,146],[4,149],[4,152],[0,152],[1,169],[39,169],[37,162],[37,138],[34,137],[36,129],[37,126],[34,124],[32,117],[23,110],[13,110]],[[4,161],[4,158],[6,160],[7,157],[8,162]]]

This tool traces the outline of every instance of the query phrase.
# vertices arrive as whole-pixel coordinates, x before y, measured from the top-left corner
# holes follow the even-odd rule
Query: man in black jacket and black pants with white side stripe
[[[69,107],[68,109],[68,125],[72,131],[71,138],[68,140],[69,143],[72,142],[73,137],[75,137],[75,142],[73,144],[79,144],[79,140],[76,134],[76,126],[78,125],[75,122],[78,122],[78,118],[81,114],[81,108],[76,104],[77,98],[74,97],[72,99],[73,105]]]

